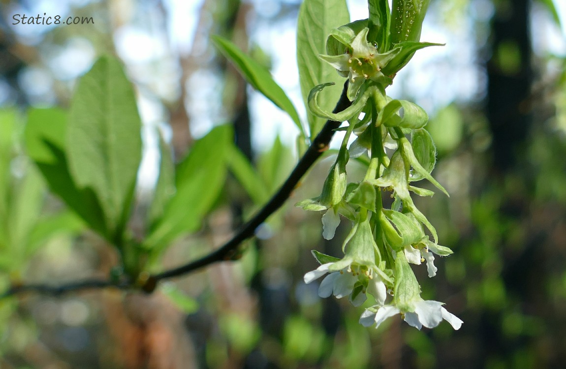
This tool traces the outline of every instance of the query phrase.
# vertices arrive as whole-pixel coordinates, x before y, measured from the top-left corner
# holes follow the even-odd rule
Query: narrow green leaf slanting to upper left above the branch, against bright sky
[[[263,93],[265,97],[277,105],[281,110],[285,111],[295,125],[299,128],[303,136],[306,137],[305,128],[299,119],[299,114],[289,97],[285,95],[283,89],[273,80],[269,71],[265,70],[260,63],[248,57],[236,45],[220,36],[212,36],[212,42],[218,50],[228,59],[235,63],[242,76],[256,90]]]

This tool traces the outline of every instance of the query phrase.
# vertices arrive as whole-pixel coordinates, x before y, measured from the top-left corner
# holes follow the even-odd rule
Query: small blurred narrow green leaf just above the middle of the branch
[[[228,147],[228,165],[234,177],[242,184],[256,205],[262,205],[269,200],[269,192],[258,171],[251,165],[245,155],[232,144]]]

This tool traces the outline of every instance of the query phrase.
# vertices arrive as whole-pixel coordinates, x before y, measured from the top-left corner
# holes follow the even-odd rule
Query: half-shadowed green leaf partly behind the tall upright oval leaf
[[[109,239],[102,208],[91,188],[78,188],[65,152],[67,115],[61,109],[31,109],[25,125],[25,147],[49,188],[103,237]]]

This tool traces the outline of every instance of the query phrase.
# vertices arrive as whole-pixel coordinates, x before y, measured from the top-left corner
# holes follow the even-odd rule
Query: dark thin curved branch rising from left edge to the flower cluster
[[[350,106],[351,102],[346,97],[346,89],[348,88],[348,81],[344,84],[344,90],[340,96],[338,104],[334,109],[334,113],[338,113]],[[237,252],[239,244],[241,244],[246,239],[252,237],[255,233],[256,228],[261,225],[271,214],[277,211],[285,203],[285,201],[291,195],[291,192],[297,186],[297,183],[301,180],[303,175],[307,173],[308,169],[316,162],[316,160],[323,154],[324,151],[328,149],[328,145],[334,135],[336,128],[340,127],[341,122],[327,121],[320,130],[319,134],[316,135],[314,141],[305,152],[305,155],[299,160],[289,177],[286,179],[285,183],[282,184],[281,188],[276,192],[275,195],[264,205],[263,208],[249,220],[242,228],[234,235],[230,241],[226,242],[223,246],[210,254],[203,256],[200,259],[191,261],[188,264],[181,265],[174,269],[168,271],[153,274],[150,276],[145,276],[144,281],[137,281],[135,284],[131,282],[112,282],[104,280],[87,280],[82,282],[76,282],[73,284],[62,285],[62,286],[49,286],[49,285],[21,285],[14,286],[4,294],[0,295],[0,298],[8,297],[10,295],[23,293],[23,292],[36,292],[43,294],[60,295],[68,293],[71,291],[84,290],[84,289],[96,289],[96,288],[108,288],[114,287],[118,289],[128,289],[134,288],[135,286],[140,286],[145,292],[151,293],[155,290],[159,281],[166,278],[178,277],[184,274],[195,271],[206,267],[207,265],[217,263],[218,261],[233,260],[234,255]],[[141,283],[140,283],[141,282]]]

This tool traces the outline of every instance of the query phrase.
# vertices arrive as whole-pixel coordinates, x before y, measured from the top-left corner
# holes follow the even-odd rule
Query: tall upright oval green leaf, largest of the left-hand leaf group
[[[121,64],[101,57],[78,83],[67,126],[71,176],[100,200],[108,235],[122,243],[141,160],[141,121]]]

